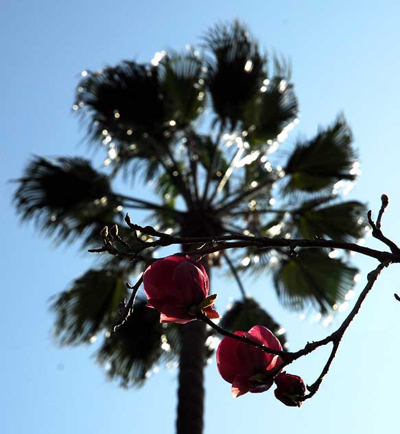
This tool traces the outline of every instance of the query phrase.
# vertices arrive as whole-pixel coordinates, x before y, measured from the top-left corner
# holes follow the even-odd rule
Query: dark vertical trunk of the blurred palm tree
[[[202,262],[210,276],[208,258]],[[202,434],[204,413],[204,341],[206,324],[191,321],[180,326],[178,410],[176,434]]]

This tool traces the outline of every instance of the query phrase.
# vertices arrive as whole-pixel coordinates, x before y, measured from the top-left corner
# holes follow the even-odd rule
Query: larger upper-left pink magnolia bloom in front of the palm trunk
[[[209,296],[209,277],[204,266],[189,256],[172,255],[158,260],[143,275],[149,308],[161,312],[161,323],[187,323],[201,309],[209,318],[219,318]]]

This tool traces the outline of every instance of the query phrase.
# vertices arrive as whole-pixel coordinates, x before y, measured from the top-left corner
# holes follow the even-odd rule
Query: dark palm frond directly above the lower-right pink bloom
[[[277,335],[282,346],[286,343],[285,332],[281,325],[263,310],[254,299],[235,301],[232,308],[227,310],[220,321],[220,326],[230,332],[242,330],[247,332],[253,325],[263,325]],[[279,332],[279,333],[278,333]]]

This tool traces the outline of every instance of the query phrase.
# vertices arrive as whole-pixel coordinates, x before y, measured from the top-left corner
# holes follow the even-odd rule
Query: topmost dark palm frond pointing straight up
[[[266,59],[248,30],[235,21],[217,25],[204,37],[213,58],[209,60],[207,84],[213,109],[222,125],[231,130],[243,121],[246,104],[255,98],[266,79]]]

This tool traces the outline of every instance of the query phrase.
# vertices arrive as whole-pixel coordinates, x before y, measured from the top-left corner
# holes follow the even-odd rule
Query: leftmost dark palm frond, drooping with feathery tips
[[[34,157],[16,181],[14,202],[21,218],[34,219],[57,242],[78,235],[88,242],[105,225],[121,220],[108,177],[84,159]]]

